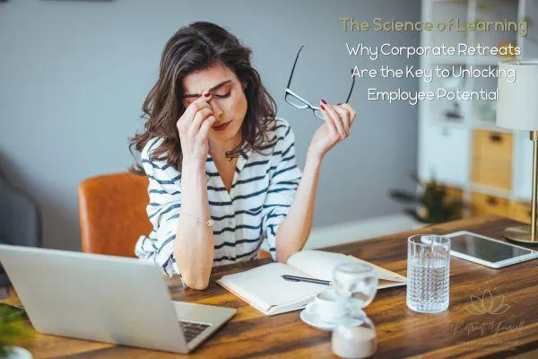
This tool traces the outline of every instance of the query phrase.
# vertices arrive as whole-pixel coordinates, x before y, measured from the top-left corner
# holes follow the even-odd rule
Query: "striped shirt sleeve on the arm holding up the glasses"
[[[273,260],[276,260],[276,232],[288,215],[301,178],[295,157],[295,136],[290,125],[285,125],[280,135],[283,139],[276,146],[281,153],[280,161],[273,171],[262,210],[262,230]]]

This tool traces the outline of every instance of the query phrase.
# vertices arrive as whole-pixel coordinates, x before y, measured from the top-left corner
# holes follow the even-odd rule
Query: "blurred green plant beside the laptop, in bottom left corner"
[[[30,352],[20,346],[33,336],[24,322],[24,311],[7,304],[0,304],[0,358],[30,359]]]

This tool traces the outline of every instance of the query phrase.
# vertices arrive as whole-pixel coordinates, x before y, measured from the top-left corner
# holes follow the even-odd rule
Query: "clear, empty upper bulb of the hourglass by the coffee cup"
[[[353,307],[364,308],[377,293],[374,268],[365,263],[343,263],[334,268],[336,292]]]

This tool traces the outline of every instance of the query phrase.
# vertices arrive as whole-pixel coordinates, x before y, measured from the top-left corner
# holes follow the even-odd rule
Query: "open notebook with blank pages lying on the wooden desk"
[[[367,261],[340,253],[322,250],[301,250],[293,254],[286,264],[270,263],[245,272],[222,276],[219,285],[236,294],[265,315],[297,311],[311,302],[327,285],[307,282],[289,282],[283,275],[309,276],[332,280],[334,267],[342,263],[361,261],[374,267],[379,285],[377,289],[406,285],[407,278]]]

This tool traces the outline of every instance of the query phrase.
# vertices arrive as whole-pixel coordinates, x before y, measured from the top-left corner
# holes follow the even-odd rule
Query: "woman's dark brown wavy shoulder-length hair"
[[[276,103],[265,89],[260,74],[250,65],[252,51],[243,46],[230,31],[212,22],[193,22],[181,27],[166,43],[162,51],[159,80],[143,101],[143,118],[146,122],[142,133],[129,138],[129,149],[141,152],[153,137],[164,141],[150,153],[150,160],[166,159],[170,166],[181,171],[181,142],[176,122],[185,108],[183,78],[187,74],[215,65],[230,68],[241,83],[246,83],[247,114],[241,125],[242,143],[226,153],[238,157],[243,151],[260,153],[268,147],[268,131],[276,124]],[[269,147],[273,144],[269,144]],[[136,163],[130,169],[144,174]]]

